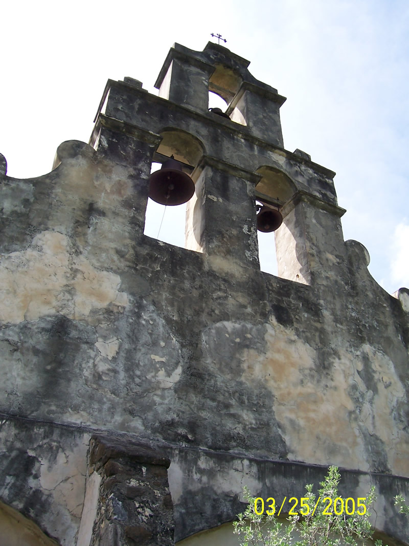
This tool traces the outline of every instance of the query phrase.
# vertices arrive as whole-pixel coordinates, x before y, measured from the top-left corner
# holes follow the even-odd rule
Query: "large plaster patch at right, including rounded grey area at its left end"
[[[407,472],[409,448],[397,408],[405,390],[383,352],[368,343],[345,347],[334,336],[322,364],[320,347],[291,328],[227,321],[204,332],[203,348],[210,369],[224,381],[238,378],[260,393],[257,407],[241,408],[242,420],[249,430],[269,413],[288,458],[340,466],[348,460],[364,471]],[[370,375],[362,372],[365,367]],[[260,389],[271,396],[262,396]],[[398,444],[391,444],[391,437],[400,438]]]

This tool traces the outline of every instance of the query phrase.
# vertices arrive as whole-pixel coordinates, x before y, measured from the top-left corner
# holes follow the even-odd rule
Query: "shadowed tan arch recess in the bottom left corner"
[[[0,537],[8,546],[57,546],[31,519],[0,501]]]

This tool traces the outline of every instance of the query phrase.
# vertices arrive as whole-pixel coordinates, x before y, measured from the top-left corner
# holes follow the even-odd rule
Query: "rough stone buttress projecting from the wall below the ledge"
[[[86,503],[87,496],[94,498],[96,517],[91,533],[89,524],[87,528],[81,520],[79,543],[81,539],[83,546],[175,544],[169,465],[170,460],[152,448],[94,436],[89,446]],[[98,479],[92,478],[94,473]],[[88,483],[96,494],[88,494]]]

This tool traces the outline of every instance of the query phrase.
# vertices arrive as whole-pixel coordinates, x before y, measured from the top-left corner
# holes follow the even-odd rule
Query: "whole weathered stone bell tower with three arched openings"
[[[61,144],[51,173],[0,162],[0,535],[4,512],[50,544],[216,544],[243,485],[302,497],[334,464],[407,539],[409,291],[344,241],[334,173],[284,149],[285,98],[248,66],[175,44],[159,96],[108,80],[90,144]],[[195,183],[185,248],[143,233],[171,156]],[[256,200],[282,215],[278,276]]]

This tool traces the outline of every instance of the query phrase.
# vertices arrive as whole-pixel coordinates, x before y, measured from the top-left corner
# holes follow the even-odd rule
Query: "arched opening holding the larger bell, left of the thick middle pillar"
[[[186,207],[194,195],[190,175],[204,147],[180,129],[166,128],[160,134],[163,139],[153,155],[143,233],[185,248]]]

